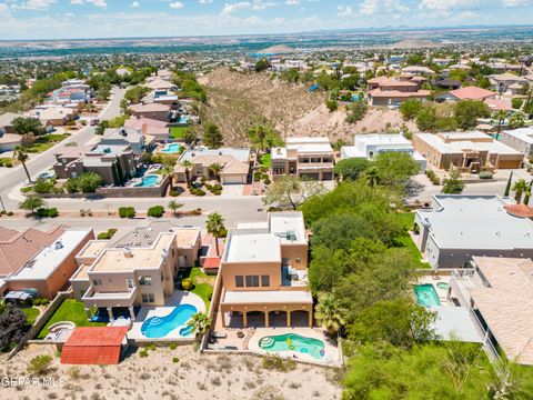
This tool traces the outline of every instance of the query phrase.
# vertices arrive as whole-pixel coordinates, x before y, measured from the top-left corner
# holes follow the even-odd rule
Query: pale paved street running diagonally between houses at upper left
[[[123,99],[125,93],[125,89],[113,89],[111,99],[108,106],[102,110],[100,113],[100,119],[112,119],[114,117],[120,116],[120,101]],[[70,138],[67,138],[58,146],[53,148],[31,157],[31,159],[27,162],[28,170],[32,177],[37,176],[43,170],[49,169],[56,158],[53,157],[59,150],[63,149],[68,143],[76,142],[78,144],[84,144],[90,141],[94,137],[94,127],[87,126],[80,129],[78,132],[73,133]],[[2,199],[6,202],[6,207],[13,209],[17,208],[17,203],[19,199],[14,198],[11,199],[8,193],[13,190],[13,188],[20,186],[24,180],[28,178],[26,177],[24,170],[21,166],[17,168],[0,168],[0,193],[2,194]]]

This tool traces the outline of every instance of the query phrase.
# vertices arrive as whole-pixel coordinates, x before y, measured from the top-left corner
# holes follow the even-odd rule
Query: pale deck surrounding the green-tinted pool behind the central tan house
[[[322,360],[318,360],[311,354],[304,354],[299,351],[264,351],[259,347],[259,341],[266,336],[278,336],[293,333],[300,334],[305,338],[319,339],[324,342],[325,356]],[[258,328],[253,336],[249,339],[248,350],[258,352],[258,353],[275,353],[283,358],[293,358],[296,360],[311,361],[324,364],[336,366],[340,364],[340,352],[336,344],[328,338],[328,336],[318,328]]]

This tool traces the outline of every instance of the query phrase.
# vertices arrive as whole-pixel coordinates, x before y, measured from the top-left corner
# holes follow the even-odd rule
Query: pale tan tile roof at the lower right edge
[[[490,287],[469,288],[505,356],[533,364],[533,261],[473,257]]]

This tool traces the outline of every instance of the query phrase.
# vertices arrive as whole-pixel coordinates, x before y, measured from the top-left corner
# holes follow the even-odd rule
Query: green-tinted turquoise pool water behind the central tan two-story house
[[[298,351],[321,360],[325,354],[324,342],[319,339],[305,338],[300,334],[285,333],[261,338],[259,347],[264,351]]]

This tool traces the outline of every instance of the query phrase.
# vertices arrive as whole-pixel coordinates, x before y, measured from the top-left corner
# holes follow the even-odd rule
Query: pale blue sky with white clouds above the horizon
[[[0,0],[0,39],[533,22],[533,0]]]

